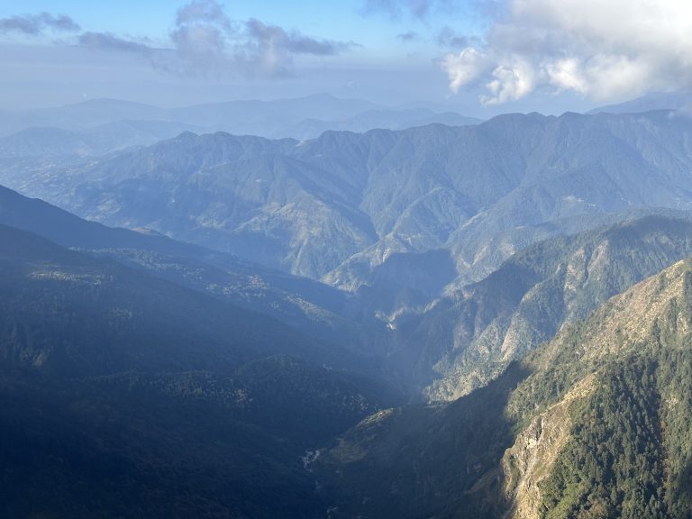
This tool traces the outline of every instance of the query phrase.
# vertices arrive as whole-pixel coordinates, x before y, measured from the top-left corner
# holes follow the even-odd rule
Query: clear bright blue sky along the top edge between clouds
[[[130,33],[165,39],[178,9],[186,4],[184,1],[120,0],[106,3],[72,0],[57,3],[23,0],[14,5],[0,5],[0,17],[41,12],[68,14],[89,31]],[[420,18],[403,10],[396,14],[386,8],[368,8],[367,2],[362,0],[222,1],[220,4],[234,19],[257,18],[265,23],[297,29],[313,36],[357,40],[373,49],[380,49],[379,46],[385,45],[388,50],[396,50],[394,37],[401,32],[434,32],[436,28],[450,23],[460,32],[483,26],[482,10],[472,2],[459,3],[460,6],[454,9],[453,19],[450,19],[451,11],[445,8],[433,8],[424,18]]]

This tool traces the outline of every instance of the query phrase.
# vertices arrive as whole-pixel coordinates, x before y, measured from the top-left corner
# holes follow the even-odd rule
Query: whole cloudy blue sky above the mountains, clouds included
[[[0,0],[0,110],[324,92],[560,114],[691,85],[689,0]]]

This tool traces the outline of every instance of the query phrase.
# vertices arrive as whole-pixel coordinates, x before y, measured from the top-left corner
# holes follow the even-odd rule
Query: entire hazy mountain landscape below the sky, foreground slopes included
[[[692,120],[650,101],[6,119],[0,514],[687,517]]]

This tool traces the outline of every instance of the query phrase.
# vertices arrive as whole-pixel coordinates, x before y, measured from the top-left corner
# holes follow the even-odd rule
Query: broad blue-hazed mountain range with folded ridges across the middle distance
[[[413,287],[418,302],[532,242],[692,208],[691,135],[690,120],[667,111],[510,114],[312,141],[187,132],[81,165],[5,168],[0,181],[82,217],[353,292],[411,272],[424,280],[415,255],[446,250],[453,268]],[[373,298],[396,312],[392,287]]]

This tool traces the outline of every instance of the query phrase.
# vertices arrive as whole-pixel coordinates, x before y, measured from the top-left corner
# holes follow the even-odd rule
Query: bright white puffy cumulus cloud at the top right
[[[609,100],[692,86],[688,0],[507,0],[484,41],[440,63],[452,92],[482,81],[485,104],[537,89]]]

